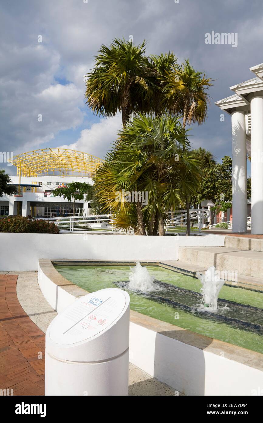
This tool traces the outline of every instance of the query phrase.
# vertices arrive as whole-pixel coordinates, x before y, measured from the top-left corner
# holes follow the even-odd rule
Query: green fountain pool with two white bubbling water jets
[[[127,290],[131,309],[138,313],[210,338],[263,351],[263,293],[231,287],[228,283],[222,287],[221,272],[214,267],[200,275],[201,283],[190,275],[161,266],[146,268],[140,263],[132,267],[119,263],[62,264],[56,268],[89,292],[116,286]]]

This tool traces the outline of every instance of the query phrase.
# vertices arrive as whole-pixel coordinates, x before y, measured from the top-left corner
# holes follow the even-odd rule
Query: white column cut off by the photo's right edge
[[[251,99],[251,233],[263,234],[263,96]]]

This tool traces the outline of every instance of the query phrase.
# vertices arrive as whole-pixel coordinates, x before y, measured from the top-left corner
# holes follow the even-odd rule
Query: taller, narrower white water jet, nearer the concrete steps
[[[220,272],[214,266],[209,267],[203,275],[198,274],[198,277],[202,283],[201,294],[203,296],[203,305],[199,309],[217,310],[218,295],[225,280],[220,279]]]

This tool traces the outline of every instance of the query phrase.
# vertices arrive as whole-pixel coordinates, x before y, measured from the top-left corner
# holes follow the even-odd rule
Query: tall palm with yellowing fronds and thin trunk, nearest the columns
[[[189,60],[177,66],[176,78],[166,76],[166,99],[172,113],[182,115],[182,126],[186,124],[202,124],[207,117],[209,96],[207,89],[212,85],[211,78],[206,78],[202,72],[195,71]],[[186,235],[190,235],[190,203],[185,198],[187,210]]]

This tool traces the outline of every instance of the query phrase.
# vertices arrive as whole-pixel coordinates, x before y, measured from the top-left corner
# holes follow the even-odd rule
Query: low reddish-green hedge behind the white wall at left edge
[[[48,220],[29,219],[23,216],[8,216],[0,219],[0,232],[14,233],[60,233],[59,228]]]

